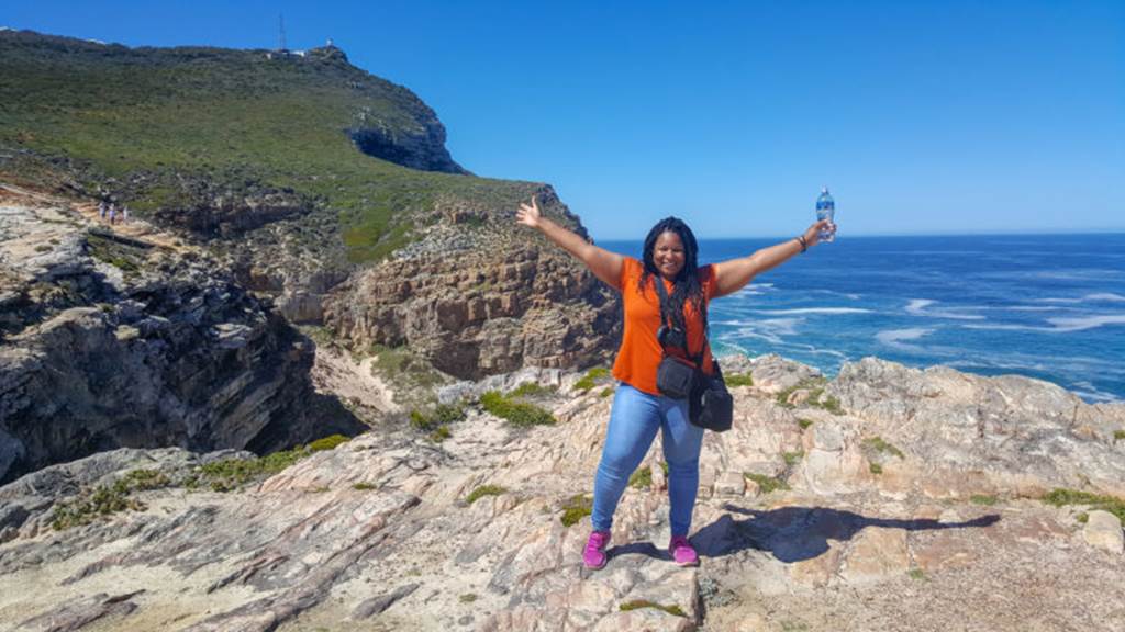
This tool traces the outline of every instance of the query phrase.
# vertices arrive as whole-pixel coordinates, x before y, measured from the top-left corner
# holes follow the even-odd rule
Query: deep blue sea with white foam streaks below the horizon
[[[704,240],[701,263],[778,240]],[[640,256],[640,242],[604,242]],[[848,237],[711,304],[716,351],[836,374],[878,355],[1125,400],[1125,234]]]

